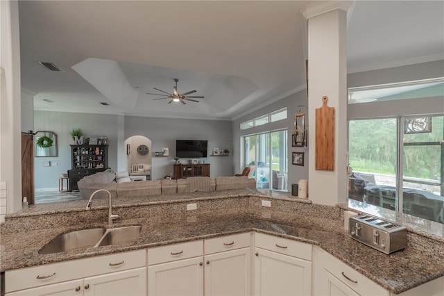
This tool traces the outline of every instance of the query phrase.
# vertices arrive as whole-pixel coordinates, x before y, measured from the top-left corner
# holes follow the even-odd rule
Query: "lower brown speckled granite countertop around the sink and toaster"
[[[233,193],[233,195],[239,197],[239,194]],[[203,198],[200,195],[191,196],[194,199]],[[302,203],[311,206],[306,201],[302,201]],[[31,210],[29,213],[31,214],[33,211]],[[137,240],[120,245],[80,249],[58,254],[39,254],[38,250],[60,233],[85,229],[85,227],[107,226],[105,223],[95,223],[78,227],[51,227],[31,231],[25,229],[23,231],[5,231],[2,227],[1,271],[225,236],[232,233],[257,231],[318,245],[391,293],[402,293],[422,283],[444,276],[444,242],[441,240],[409,232],[407,248],[386,255],[352,240],[343,230],[343,222],[340,219],[332,220],[322,215],[291,215],[284,212],[280,212],[279,215],[287,215],[287,217],[280,220],[275,219],[275,216],[258,218],[257,215],[251,213],[223,215],[220,212],[205,211],[187,217],[173,216],[169,220],[146,217],[121,220],[114,223],[112,227],[141,225],[141,236]]]

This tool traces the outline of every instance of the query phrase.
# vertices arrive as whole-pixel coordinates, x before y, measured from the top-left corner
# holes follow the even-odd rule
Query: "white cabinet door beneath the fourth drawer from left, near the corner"
[[[311,295],[311,262],[256,247],[255,295]]]

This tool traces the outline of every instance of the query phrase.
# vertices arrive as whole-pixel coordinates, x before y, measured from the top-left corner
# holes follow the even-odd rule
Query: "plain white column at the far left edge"
[[[17,1],[0,1],[0,181],[8,213],[22,205],[20,42]]]

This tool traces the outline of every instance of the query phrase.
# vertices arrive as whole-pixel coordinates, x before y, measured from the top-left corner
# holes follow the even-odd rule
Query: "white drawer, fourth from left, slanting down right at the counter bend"
[[[311,261],[311,245],[305,242],[255,233],[255,246]]]

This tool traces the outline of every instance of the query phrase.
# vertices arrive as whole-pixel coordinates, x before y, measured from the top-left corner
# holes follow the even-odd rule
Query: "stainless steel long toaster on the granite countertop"
[[[350,236],[373,249],[390,254],[407,247],[406,227],[369,215],[350,217]]]

